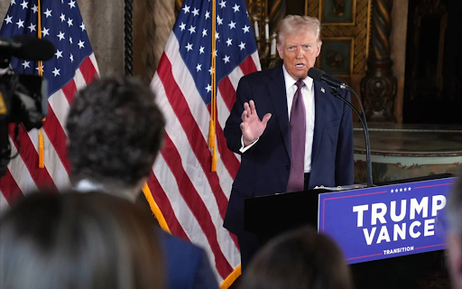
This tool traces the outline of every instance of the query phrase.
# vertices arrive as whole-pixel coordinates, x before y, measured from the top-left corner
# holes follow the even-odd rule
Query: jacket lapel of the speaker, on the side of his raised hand
[[[270,83],[270,97],[273,102],[274,114],[281,129],[287,154],[291,157],[291,135],[289,131],[289,115],[287,113],[287,96],[285,91],[285,80],[282,66],[274,69],[271,74],[273,81]]]

